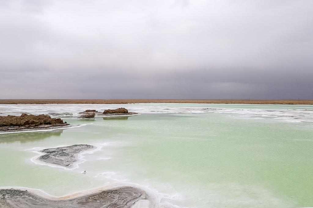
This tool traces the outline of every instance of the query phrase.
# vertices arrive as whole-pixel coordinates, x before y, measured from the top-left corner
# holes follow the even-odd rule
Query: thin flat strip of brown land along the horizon
[[[313,100],[162,100],[162,99],[0,100],[0,104],[129,104],[129,103],[216,103],[216,104],[313,105]]]

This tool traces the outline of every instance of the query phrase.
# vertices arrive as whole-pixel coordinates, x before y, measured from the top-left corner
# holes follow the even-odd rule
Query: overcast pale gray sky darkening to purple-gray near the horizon
[[[0,99],[313,99],[313,1],[0,0]]]

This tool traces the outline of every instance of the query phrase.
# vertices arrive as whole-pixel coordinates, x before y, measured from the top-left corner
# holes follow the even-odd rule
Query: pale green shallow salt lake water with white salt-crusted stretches
[[[141,114],[75,119],[117,107]],[[44,104],[0,105],[0,112],[72,112],[62,119],[84,124],[0,134],[0,186],[61,196],[126,184],[155,194],[159,207],[313,206],[311,105]],[[100,150],[74,170],[31,160],[38,148],[73,144]]]

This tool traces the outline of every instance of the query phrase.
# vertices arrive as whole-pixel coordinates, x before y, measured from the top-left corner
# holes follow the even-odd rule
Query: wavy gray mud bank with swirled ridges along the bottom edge
[[[47,199],[30,191],[19,189],[1,189],[0,207],[2,208],[41,208],[41,207],[101,207],[101,208],[129,208],[137,201],[147,199],[146,192],[131,186],[109,190],[84,196],[64,196]]]

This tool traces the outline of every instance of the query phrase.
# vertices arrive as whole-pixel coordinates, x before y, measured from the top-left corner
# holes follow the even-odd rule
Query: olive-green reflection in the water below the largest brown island
[[[37,131],[37,132],[20,132],[0,134],[0,143],[17,142],[26,143],[31,141],[42,140],[51,136],[61,136],[63,129],[57,129],[54,131]]]

